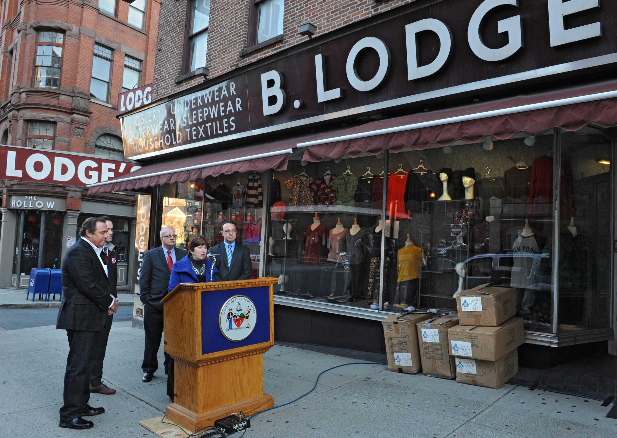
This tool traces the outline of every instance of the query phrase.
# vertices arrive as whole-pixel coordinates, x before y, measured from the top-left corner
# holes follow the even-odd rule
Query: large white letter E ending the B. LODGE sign
[[[550,46],[574,43],[574,41],[587,40],[594,36],[602,35],[600,23],[592,23],[571,29],[563,28],[563,17],[576,12],[587,11],[594,7],[600,7],[600,0],[549,0],[549,29]]]

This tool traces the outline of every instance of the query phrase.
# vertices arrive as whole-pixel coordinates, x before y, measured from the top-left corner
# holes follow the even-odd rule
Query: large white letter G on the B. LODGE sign
[[[491,49],[484,44],[480,36],[480,24],[484,16],[497,6],[511,5],[518,7],[518,0],[484,0],[476,12],[471,15],[467,28],[467,40],[471,51],[484,61],[502,61],[523,47],[523,30],[521,28],[521,16],[516,15],[509,19],[497,22],[497,32],[508,33],[508,44],[499,49]]]

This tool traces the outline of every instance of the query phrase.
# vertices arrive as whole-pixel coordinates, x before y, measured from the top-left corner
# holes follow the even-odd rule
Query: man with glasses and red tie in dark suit
[[[163,334],[163,304],[161,298],[167,295],[169,276],[176,261],[186,256],[186,251],[176,248],[176,232],[172,227],[160,230],[161,246],[146,251],[139,271],[139,299],[144,303],[144,332],[146,346],[141,369],[144,375],[141,381],[149,382],[154,372],[159,369],[160,339]],[[165,353],[165,374],[169,355]]]

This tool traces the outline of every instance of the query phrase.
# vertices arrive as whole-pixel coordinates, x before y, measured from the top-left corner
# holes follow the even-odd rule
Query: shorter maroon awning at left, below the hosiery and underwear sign
[[[313,136],[314,137],[314,136]],[[88,185],[88,193],[124,192],[162,184],[186,182],[233,172],[265,172],[268,169],[284,171],[287,160],[298,141],[307,137],[291,138],[285,141],[271,141],[250,146],[228,147],[192,156],[158,159],[144,164],[141,169],[106,182]]]

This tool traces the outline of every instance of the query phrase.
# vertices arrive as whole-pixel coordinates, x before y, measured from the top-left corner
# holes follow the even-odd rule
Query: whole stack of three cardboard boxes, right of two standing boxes
[[[460,325],[448,330],[457,382],[499,388],[518,373],[516,348],[524,341],[513,287],[481,285],[457,297]]]

